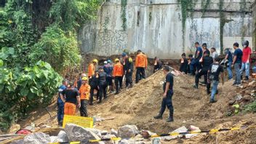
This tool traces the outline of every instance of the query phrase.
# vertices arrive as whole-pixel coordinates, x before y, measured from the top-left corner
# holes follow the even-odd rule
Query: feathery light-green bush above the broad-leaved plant
[[[36,43],[31,55],[31,61],[44,60],[51,63],[55,71],[63,73],[67,68],[80,64],[81,55],[75,36],[66,36],[57,25],[52,25],[43,33]]]

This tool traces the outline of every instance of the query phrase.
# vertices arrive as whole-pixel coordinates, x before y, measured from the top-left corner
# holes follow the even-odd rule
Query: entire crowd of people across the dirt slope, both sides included
[[[225,58],[221,61],[215,47],[207,48],[207,44],[200,46],[199,42],[195,43],[195,55],[188,55],[185,53],[181,55],[180,72],[195,76],[195,89],[201,85],[207,86],[207,94],[210,94],[210,103],[215,103],[215,95],[217,94],[217,86],[219,84],[219,76],[221,75],[222,84],[224,84],[224,68],[228,71],[228,80],[233,79],[234,86],[241,85],[243,71],[246,71],[245,80],[249,79],[249,61],[252,49],[249,47],[249,42],[242,43],[243,50],[239,49],[239,44],[234,43],[232,54],[231,49],[225,49]],[[57,120],[61,125],[63,116],[75,115],[77,110],[80,110],[81,116],[88,116],[87,104],[93,105],[94,96],[97,98],[97,103],[102,103],[103,98],[106,99],[109,94],[119,94],[122,89],[129,89],[133,87],[132,73],[134,71],[134,63],[129,53],[123,53],[121,58],[113,60],[106,60],[103,66],[98,66],[98,60],[92,60],[88,66],[88,73],[80,73],[79,79],[75,82],[63,80],[63,85],[59,88],[59,97],[57,100],[58,112]],[[135,83],[141,79],[145,79],[145,69],[148,67],[148,58],[141,50],[137,51],[135,58]],[[170,68],[167,65],[161,66],[161,61],[158,57],[154,59],[153,73],[163,69],[166,76],[163,85],[163,100],[161,103],[161,110],[154,119],[162,119],[166,108],[169,109],[169,117],[167,122],[174,121],[172,106],[173,95],[173,76],[170,73]],[[203,79],[199,81],[199,79]],[[123,82],[125,87],[123,86]],[[211,88],[212,85],[212,89]]]

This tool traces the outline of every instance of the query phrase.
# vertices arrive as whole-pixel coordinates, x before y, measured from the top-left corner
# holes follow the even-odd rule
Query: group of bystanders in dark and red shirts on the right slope
[[[219,75],[221,75],[222,84],[224,84],[224,69],[228,72],[228,81],[233,79],[234,68],[235,76],[233,86],[239,87],[241,85],[241,79],[243,79],[243,72],[245,71],[244,80],[249,79],[249,66],[250,66],[250,55],[252,49],[249,47],[249,41],[242,42],[243,49],[239,48],[239,43],[233,44],[234,52],[232,49],[225,49],[225,57],[223,60],[220,59],[216,52],[215,47],[210,50],[207,49],[207,44],[202,44],[200,47],[199,42],[195,43],[196,53],[188,55],[188,59],[185,54],[181,55],[180,60],[180,71],[188,73],[190,76],[195,76],[194,88],[199,88],[199,79],[204,77],[201,81],[201,85],[207,86],[207,94],[210,94],[210,103],[215,103],[215,95],[217,94],[217,85],[219,84]],[[212,84],[212,91],[210,87]]]

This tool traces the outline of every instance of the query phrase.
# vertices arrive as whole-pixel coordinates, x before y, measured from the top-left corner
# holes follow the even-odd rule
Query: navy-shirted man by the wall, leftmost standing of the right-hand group
[[[190,70],[191,70],[192,76],[195,75],[195,70],[194,70],[195,67],[196,67],[196,71],[199,71],[201,69],[199,60],[203,56],[203,50],[201,49],[199,42],[195,43],[195,47],[196,47],[195,58],[191,61],[191,64],[190,64]]]

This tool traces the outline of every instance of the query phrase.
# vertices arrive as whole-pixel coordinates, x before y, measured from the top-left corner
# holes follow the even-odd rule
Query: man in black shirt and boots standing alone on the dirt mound
[[[173,121],[173,106],[172,106],[172,95],[173,95],[173,76],[172,73],[169,72],[169,66],[164,66],[164,75],[166,75],[165,81],[164,81],[164,97],[161,102],[161,110],[159,111],[158,116],[154,116],[154,119],[163,119],[163,114],[166,109],[166,107],[169,109],[169,118],[167,119],[167,122]]]

